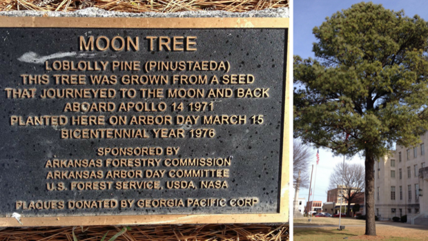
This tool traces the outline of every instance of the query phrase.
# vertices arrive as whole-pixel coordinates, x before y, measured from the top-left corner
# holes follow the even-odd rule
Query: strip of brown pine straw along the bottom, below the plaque
[[[262,224],[207,224],[207,225],[148,225],[130,226],[131,230],[117,241],[177,241],[177,240],[289,240],[289,226],[266,226]],[[0,231],[0,240],[68,240],[72,241],[73,227],[8,228]],[[122,229],[121,226],[89,226],[75,228],[77,240],[99,241],[108,232],[108,240]]]

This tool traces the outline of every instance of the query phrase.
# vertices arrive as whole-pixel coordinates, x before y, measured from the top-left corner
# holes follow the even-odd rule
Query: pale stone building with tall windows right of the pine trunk
[[[408,219],[420,212],[421,198],[419,169],[428,162],[425,144],[428,135],[420,136],[421,144],[406,148],[396,146],[396,151],[381,158],[373,166],[375,173],[375,213],[380,220],[407,215]]]

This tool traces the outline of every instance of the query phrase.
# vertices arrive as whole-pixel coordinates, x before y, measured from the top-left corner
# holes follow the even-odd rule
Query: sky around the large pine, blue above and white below
[[[312,29],[315,26],[320,26],[326,17],[331,17],[333,13],[342,9],[351,8],[355,3],[360,3],[356,0],[294,0],[293,1],[293,19],[294,19],[294,55],[306,59],[308,57],[315,57],[312,52],[312,43],[315,42]],[[378,0],[372,1],[376,4],[382,4],[384,8],[390,10],[405,10],[405,15],[413,17],[419,15],[425,21],[428,21],[428,8],[425,0]],[[315,177],[316,157],[314,150],[313,160],[314,164],[313,176]],[[327,202],[327,188],[329,186],[329,177],[332,173],[332,168],[335,164],[343,162],[342,157],[333,157],[332,153],[326,149],[320,149],[320,162],[317,167],[315,179],[315,189],[313,189],[313,197],[315,201]],[[351,159],[345,160],[349,163],[359,163],[364,165],[364,160],[355,156]],[[309,167],[311,168],[311,166]],[[314,180],[312,181],[312,186]],[[308,200],[309,190],[300,189],[299,197],[305,197]],[[294,193],[293,193],[294,197]],[[312,198],[311,198],[312,200]]]

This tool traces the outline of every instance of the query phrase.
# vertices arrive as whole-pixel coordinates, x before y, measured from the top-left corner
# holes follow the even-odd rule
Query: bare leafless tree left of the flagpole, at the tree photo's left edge
[[[307,146],[299,142],[297,139],[293,139],[293,186],[295,187],[298,181],[299,171],[300,173],[300,188],[309,188],[309,163],[315,155],[313,155],[313,149],[311,146]]]

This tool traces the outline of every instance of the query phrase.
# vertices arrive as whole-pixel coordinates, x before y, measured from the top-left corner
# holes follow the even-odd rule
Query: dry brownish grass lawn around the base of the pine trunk
[[[350,226],[342,231],[337,228],[295,228],[293,238],[295,241],[303,240],[317,240],[317,241],[331,241],[331,240],[427,240],[428,233],[425,229],[413,229],[411,227],[398,227],[398,226],[376,226],[377,236],[364,235],[364,226]]]

